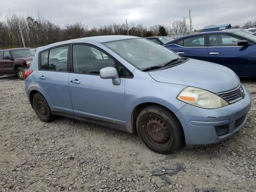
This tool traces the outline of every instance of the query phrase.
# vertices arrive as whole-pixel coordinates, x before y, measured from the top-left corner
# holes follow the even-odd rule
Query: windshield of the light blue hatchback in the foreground
[[[164,66],[171,60],[181,58],[167,48],[143,38],[118,40],[103,44],[139,70]]]

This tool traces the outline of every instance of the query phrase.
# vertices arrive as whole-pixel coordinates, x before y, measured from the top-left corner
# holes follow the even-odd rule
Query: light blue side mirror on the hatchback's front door
[[[118,72],[114,67],[105,67],[100,70],[100,78],[112,79],[113,85],[120,85],[121,79],[119,78]]]

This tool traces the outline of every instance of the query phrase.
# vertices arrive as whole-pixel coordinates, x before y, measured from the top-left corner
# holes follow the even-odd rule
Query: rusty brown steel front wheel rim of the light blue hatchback
[[[163,120],[152,116],[148,118],[143,127],[143,134],[152,145],[160,148],[168,146],[171,135]]]

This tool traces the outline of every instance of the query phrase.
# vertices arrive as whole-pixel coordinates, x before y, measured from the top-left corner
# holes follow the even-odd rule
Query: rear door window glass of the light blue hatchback
[[[41,69],[67,71],[68,46],[62,46],[41,52]]]

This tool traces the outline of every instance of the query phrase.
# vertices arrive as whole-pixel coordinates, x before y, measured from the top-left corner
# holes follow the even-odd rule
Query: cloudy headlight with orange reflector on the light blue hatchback
[[[206,109],[215,109],[228,105],[220,96],[195,87],[186,87],[177,96],[178,100]]]

